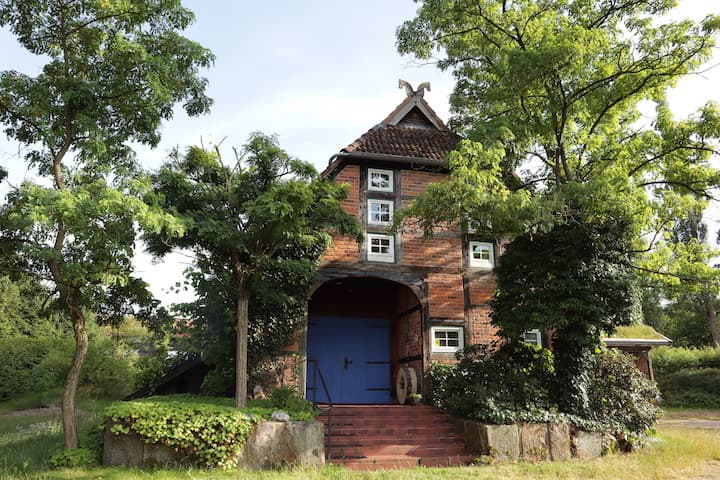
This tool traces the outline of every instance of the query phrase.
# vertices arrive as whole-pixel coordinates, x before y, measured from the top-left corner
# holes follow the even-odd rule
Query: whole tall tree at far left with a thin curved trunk
[[[157,145],[160,123],[177,102],[191,115],[208,110],[198,69],[212,54],[178,34],[192,20],[179,0],[0,0],[0,26],[48,59],[36,77],[0,73],[0,123],[28,146],[26,161],[48,180],[10,193],[0,211],[0,246],[19,252],[29,273],[52,284],[72,320],[76,348],[62,396],[66,448],[77,447],[85,309],[98,307],[108,286],[145,287],[130,277],[136,225],[178,230],[172,217],[138,198],[149,183],[129,142]]]

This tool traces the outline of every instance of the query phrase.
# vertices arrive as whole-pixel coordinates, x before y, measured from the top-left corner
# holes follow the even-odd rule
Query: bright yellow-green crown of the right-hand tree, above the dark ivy
[[[674,4],[423,1],[398,29],[398,48],[420,59],[442,50],[438,66],[457,82],[452,124],[467,140],[449,158],[451,180],[398,219],[420,218],[428,233],[454,222],[520,241],[566,226],[610,227],[625,249],[618,274],[716,281],[701,262],[688,268],[670,236],[675,218],[713,198],[720,178],[708,160],[720,109],[709,103],[676,120],[665,95],[710,58],[720,19],[660,18]],[[641,123],[641,102],[656,107],[652,125]],[[572,290],[563,295],[572,301]]]

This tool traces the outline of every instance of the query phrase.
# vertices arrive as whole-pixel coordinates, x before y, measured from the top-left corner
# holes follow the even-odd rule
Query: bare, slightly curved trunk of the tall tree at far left
[[[80,383],[80,371],[88,350],[88,336],[85,330],[85,316],[75,298],[66,298],[75,332],[75,355],[65,380],[61,402],[61,416],[65,448],[78,447],[77,421],[75,418],[75,393]]]

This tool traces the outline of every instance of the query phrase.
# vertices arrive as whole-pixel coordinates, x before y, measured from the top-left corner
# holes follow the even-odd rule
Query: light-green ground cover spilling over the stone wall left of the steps
[[[273,411],[286,410],[293,420],[312,420],[311,403],[289,389],[271,393],[267,400],[251,400],[235,408],[230,398],[175,395],[119,402],[105,410],[115,434],[137,433],[148,443],[159,443],[185,455],[188,464],[231,468],[255,424]]]

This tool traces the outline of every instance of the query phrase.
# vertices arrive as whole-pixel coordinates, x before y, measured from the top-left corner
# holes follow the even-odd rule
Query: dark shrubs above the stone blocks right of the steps
[[[552,353],[527,344],[506,344],[497,351],[466,349],[457,364],[433,364],[431,377],[435,405],[488,423],[565,421],[637,440],[659,416],[654,384],[631,358],[612,350],[591,357],[585,415],[558,409]]]

